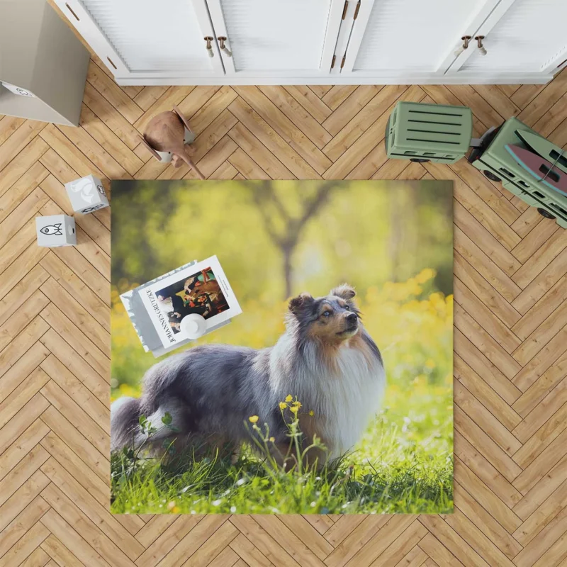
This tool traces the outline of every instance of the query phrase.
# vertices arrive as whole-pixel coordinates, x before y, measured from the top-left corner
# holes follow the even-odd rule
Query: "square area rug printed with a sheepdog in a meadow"
[[[452,512],[452,203],[113,181],[113,512]]]

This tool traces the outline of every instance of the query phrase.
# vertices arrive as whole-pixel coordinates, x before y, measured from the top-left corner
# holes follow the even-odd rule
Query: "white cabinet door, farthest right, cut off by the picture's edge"
[[[449,74],[554,72],[567,58],[567,0],[503,0],[474,35],[486,55],[473,43]]]

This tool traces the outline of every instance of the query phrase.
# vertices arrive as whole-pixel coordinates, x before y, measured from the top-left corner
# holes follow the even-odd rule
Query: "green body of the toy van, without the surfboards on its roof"
[[[507,144],[529,150],[516,135],[516,130],[537,134],[517,118],[510,118],[492,133],[483,136],[481,147],[471,152],[468,162],[480,169],[488,179],[502,181],[505,189],[528,205],[537,207],[541,215],[555,218],[559,226],[567,228],[567,196],[537,181],[507,152]]]

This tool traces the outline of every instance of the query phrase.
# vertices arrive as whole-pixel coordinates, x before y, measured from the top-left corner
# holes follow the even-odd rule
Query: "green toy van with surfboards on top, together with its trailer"
[[[468,162],[473,167],[567,228],[567,193],[561,189],[567,178],[563,150],[517,118],[490,128],[479,139],[471,138],[472,128],[471,109],[465,106],[399,102],[386,126],[386,152],[395,159],[450,164],[472,146]],[[522,152],[539,169],[516,157]]]

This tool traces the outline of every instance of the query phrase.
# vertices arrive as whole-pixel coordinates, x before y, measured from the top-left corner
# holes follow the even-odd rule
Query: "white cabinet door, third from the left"
[[[461,37],[497,2],[361,0],[341,74],[400,79],[443,74]]]

